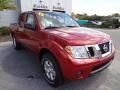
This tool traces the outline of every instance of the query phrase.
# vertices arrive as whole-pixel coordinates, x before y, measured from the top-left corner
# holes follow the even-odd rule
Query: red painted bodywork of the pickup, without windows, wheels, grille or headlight
[[[103,43],[110,39],[109,35],[82,27],[42,30],[42,25],[38,21],[36,12],[29,13],[32,13],[35,17],[36,31],[20,28],[17,24],[10,26],[11,33],[15,35],[17,42],[22,43],[37,56],[40,55],[42,49],[48,49],[51,51],[56,57],[61,72],[65,78],[70,80],[84,79],[90,75],[95,66],[113,60],[115,55],[114,46],[112,48],[112,53],[106,57],[83,60],[74,59],[64,49],[66,46]],[[76,74],[80,71],[82,74],[77,78]]]

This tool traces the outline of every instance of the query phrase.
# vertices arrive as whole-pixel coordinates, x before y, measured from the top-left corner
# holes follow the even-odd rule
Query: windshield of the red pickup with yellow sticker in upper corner
[[[44,29],[79,26],[70,16],[61,12],[39,12],[39,21]]]

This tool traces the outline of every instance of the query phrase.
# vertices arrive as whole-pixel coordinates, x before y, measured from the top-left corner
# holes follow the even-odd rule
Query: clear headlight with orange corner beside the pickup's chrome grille
[[[84,46],[67,46],[65,50],[75,59],[87,59],[88,53]]]

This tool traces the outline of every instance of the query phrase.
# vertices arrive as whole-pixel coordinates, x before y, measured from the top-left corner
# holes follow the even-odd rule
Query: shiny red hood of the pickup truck
[[[47,30],[49,33],[66,40],[71,45],[92,45],[110,39],[108,34],[83,27],[56,28]]]

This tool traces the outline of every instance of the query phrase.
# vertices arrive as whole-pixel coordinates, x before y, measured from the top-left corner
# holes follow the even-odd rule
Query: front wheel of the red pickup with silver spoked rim
[[[52,87],[60,86],[63,83],[63,78],[55,57],[50,53],[46,53],[41,60],[45,80]]]

